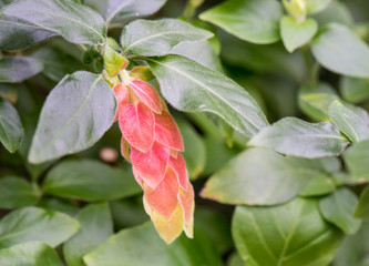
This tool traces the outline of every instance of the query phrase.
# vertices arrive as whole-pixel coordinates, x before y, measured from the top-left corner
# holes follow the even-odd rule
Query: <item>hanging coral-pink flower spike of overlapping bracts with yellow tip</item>
[[[140,75],[139,75],[140,76]],[[119,104],[122,155],[144,190],[144,207],[167,243],[183,231],[193,237],[194,190],[181,132],[156,89],[142,80],[113,88]]]

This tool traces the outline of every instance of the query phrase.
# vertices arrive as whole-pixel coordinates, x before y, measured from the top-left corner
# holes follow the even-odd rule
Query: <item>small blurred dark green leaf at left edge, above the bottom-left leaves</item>
[[[18,208],[33,205],[40,192],[20,177],[0,178],[0,208]]]

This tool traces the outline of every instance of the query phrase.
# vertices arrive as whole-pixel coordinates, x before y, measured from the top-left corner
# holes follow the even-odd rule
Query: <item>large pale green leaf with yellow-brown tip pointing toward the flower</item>
[[[226,204],[280,204],[295,197],[310,180],[322,174],[319,164],[312,160],[250,149],[213,175],[202,196]]]

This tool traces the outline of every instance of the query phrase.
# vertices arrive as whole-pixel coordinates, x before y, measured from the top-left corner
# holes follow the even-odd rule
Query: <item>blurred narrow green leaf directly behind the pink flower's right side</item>
[[[206,146],[199,134],[185,121],[177,121],[185,152],[183,157],[186,161],[189,178],[197,178],[206,165]]]

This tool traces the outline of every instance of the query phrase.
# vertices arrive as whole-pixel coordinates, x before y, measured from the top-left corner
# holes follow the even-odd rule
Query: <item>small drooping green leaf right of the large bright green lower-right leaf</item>
[[[360,219],[353,218],[357,205],[357,196],[348,188],[337,190],[319,201],[322,216],[350,235],[355,234],[361,225]]]

